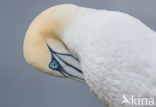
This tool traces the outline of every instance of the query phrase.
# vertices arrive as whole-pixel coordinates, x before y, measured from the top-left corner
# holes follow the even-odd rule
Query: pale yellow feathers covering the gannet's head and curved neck
[[[67,53],[61,36],[64,28],[72,23],[75,15],[86,10],[71,4],[51,7],[39,14],[29,26],[24,39],[24,58],[39,71],[54,76],[61,76],[58,72],[51,74],[48,68],[51,54],[49,45],[58,51]]]

